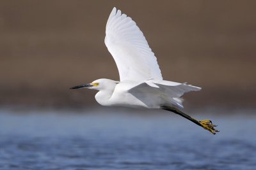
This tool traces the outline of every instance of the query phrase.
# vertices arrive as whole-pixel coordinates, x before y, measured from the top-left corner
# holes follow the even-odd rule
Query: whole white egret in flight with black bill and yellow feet
[[[185,92],[200,87],[163,80],[157,59],[138,25],[120,10],[113,8],[106,25],[105,44],[118,67],[120,81],[100,78],[89,84],[70,89],[99,90],[96,101],[102,106],[163,109],[188,118],[215,134],[211,120],[198,121],[182,113],[180,98]],[[178,107],[178,108],[177,108]]]

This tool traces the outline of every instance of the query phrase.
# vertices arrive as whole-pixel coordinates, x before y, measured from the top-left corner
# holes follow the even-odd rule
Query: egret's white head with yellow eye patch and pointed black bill
[[[95,89],[95,90],[114,90],[116,84],[118,83],[119,83],[118,81],[109,80],[106,78],[100,78],[98,80],[92,81],[92,83],[77,85],[77,86],[71,87],[70,89],[87,88],[87,89]]]

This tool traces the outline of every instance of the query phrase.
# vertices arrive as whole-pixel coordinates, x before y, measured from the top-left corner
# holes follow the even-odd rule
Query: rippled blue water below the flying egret
[[[0,111],[0,169],[256,169],[254,115],[195,115],[214,136],[163,112],[84,112]]]

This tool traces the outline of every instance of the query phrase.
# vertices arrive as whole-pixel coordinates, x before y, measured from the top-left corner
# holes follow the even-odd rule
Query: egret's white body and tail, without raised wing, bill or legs
[[[130,108],[151,109],[159,109],[161,106],[166,105],[182,107],[182,99],[179,97],[184,92],[200,90],[199,87],[187,85],[186,83],[165,80],[148,80],[143,83],[136,83],[132,81],[118,82],[102,78],[96,81],[99,83],[102,81],[108,84],[109,87],[100,90],[95,96],[96,101],[102,106],[126,106]],[[153,83],[157,87],[151,87],[148,85],[150,83]]]

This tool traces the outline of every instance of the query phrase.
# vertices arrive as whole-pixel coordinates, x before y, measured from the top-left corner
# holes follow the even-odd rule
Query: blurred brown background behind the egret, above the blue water
[[[104,45],[112,8],[132,17],[165,80],[202,87],[185,106],[255,108],[256,1],[0,1],[1,106],[86,107],[118,80]]]

